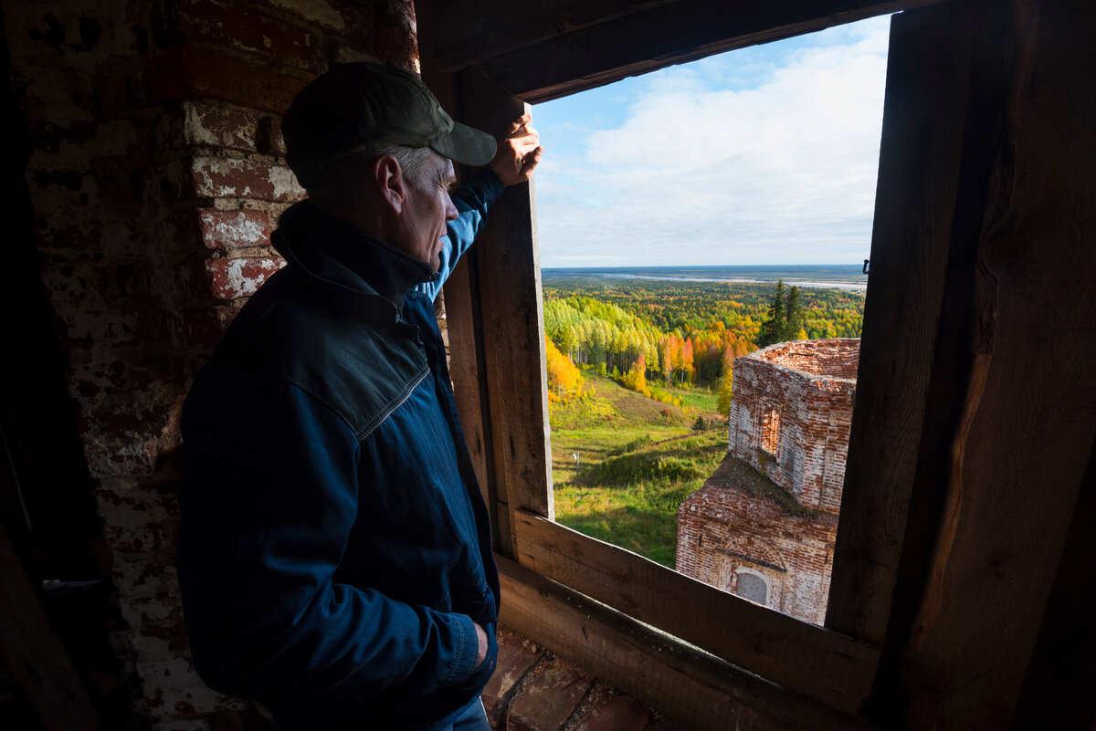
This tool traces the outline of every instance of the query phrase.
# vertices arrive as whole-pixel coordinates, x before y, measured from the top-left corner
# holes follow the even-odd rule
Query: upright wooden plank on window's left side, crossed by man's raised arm
[[[464,118],[501,131],[527,105],[478,73],[458,74]],[[506,190],[477,242],[490,433],[498,499],[551,517],[551,446],[534,182]],[[503,546],[506,545],[503,539]],[[510,550],[513,550],[513,542]]]

